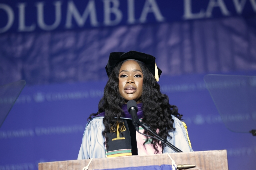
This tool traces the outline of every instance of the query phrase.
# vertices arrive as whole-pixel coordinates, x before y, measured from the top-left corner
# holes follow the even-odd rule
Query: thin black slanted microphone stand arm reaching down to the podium
[[[159,136],[155,131],[153,131],[150,126],[148,126],[145,123],[141,123],[139,120],[134,122],[135,124],[137,123],[137,126],[141,126],[143,129],[145,129],[146,131],[148,131],[149,133],[151,133],[154,136],[150,136],[144,133],[139,132],[139,130],[137,130],[138,133],[143,134],[145,136],[149,136],[152,138],[155,138],[157,140],[160,140],[163,144],[166,144],[166,146],[168,146],[169,148],[171,148],[172,150],[174,150],[175,152],[182,152],[180,149],[178,149],[177,147],[175,147],[173,144],[171,144],[170,142],[167,141],[167,139],[162,138],[161,136]]]

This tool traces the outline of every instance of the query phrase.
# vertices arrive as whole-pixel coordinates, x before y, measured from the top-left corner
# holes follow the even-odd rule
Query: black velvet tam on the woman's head
[[[106,71],[108,77],[112,70],[115,68],[117,64],[124,60],[137,60],[143,62],[149,69],[149,71],[155,76],[155,68],[156,68],[156,58],[152,55],[138,52],[138,51],[129,51],[129,52],[111,52],[109,54],[108,64],[106,66]],[[162,70],[157,67],[158,77],[160,77]]]

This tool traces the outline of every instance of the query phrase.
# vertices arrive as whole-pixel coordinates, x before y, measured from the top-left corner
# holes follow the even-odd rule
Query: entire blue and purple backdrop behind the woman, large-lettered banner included
[[[157,58],[195,151],[227,149],[231,170],[255,169],[256,138],[225,128],[203,82],[255,75],[255,14],[256,0],[1,0],[0,85],[27,86],[0,128],[0,170],[76,159],[109,53],[129,50]]]

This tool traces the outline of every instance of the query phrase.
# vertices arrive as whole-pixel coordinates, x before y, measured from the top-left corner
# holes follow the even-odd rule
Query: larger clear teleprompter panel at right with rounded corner
[[[229,130],[256,129],[256,76],[208,74],[204,81]]]

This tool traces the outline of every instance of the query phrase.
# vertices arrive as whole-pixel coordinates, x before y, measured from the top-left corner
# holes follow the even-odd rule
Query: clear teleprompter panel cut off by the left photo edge
[[[0,86],[0,128],[25,85],[26,81],[20,80]]]

